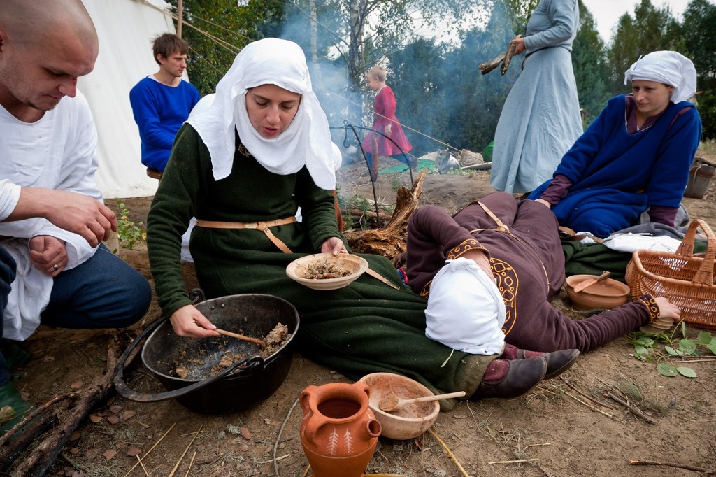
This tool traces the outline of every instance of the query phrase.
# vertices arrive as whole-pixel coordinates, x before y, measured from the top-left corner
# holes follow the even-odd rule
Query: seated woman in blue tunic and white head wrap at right
[[[677,52],[652,52],[632,64],[624,84],[564,155],[553,179],[529,198],[550,206],[560,225],[606,237],[635,225],[642,212],[674,226],[701,120],[688,100],[696,70]]]

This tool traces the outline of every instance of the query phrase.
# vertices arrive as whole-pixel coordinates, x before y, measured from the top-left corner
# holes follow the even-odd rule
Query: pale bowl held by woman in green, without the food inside
[[[309,279],[306,272],[309,266],[314,264],[327,263],[338,266],[344,271],[349,271],[347,276],[329,279]],[[314,290],[335,290],[347,286],[361,276],[368,269],[368,262],[360,256],[349,254],[314,254],[301,257],[292,261],[286,266],[286,274],[301,285],[308,286]]]

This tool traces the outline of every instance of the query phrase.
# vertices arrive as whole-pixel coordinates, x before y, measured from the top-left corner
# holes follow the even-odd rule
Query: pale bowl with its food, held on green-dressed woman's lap
[[[368,269],[361,256],[314,254],[303,256],[286,266],[286,274],[314,290],[335,290],[352,283]]]

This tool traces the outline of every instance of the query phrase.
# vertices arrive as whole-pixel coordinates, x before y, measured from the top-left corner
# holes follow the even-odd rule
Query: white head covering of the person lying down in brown
[[[425,336],[453,350],[498,355],[505,347],[505,302],[475,261],[445,261],[430,284]]]

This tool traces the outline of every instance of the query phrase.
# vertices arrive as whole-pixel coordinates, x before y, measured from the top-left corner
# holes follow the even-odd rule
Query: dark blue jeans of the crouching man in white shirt
[[[0,247],[0,312],[7,306],[14,276],[15,262]],[[91,259],[54,277],[40,321],[61,328],[127,327],[144,316],[151,299],[147,279],[101,244]],[[0,319],[0,338],[2,334]],[[0,353],[0,385],[9,379]]]

